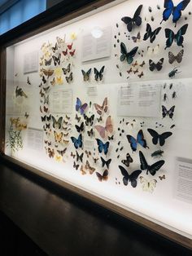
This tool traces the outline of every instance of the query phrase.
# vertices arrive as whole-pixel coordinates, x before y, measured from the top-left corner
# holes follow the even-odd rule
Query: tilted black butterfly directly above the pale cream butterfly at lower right
[[[146,174],[150,172],[152,176],[156,174],[156,172],[164,166],[164,160],[156,161],[152,166],[149,166],[146,162],[146,158],[144,157],[143,153],[139,151],[139,158],[141,162],[141,169],[146,170]]]

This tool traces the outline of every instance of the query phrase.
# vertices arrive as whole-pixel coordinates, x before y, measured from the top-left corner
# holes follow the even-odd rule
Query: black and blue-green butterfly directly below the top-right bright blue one
[[[175,34],[172,29],[164,29],[165,37],[168,38],[166,41],[166,46],[164,50],[166,50],[168,47],[172,46],[172,42],[175,41],[177,43],[177,46],[183,46],[183,35],[186,33],[186,29],[188,28],[188,24],[185,24],[177,31]]]

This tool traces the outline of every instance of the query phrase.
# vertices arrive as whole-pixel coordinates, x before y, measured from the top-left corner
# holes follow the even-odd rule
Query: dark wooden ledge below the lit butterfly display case
[[[190,256],[192,252],[67,190],[0,164],[0,211],[46,254]]]

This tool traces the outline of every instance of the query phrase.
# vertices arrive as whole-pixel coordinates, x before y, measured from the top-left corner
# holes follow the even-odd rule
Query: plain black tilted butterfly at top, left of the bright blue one
[[[127,29],[129,32],[132,31],[135,25],[139,27],[142,24],[142,18],[140,17],[141,11],[142,5],[137,7],[137,10],[135,11],[133,18],[130,18],[128,16],[124,16],[123,18],[121,18],[121,20],[127,25]]]

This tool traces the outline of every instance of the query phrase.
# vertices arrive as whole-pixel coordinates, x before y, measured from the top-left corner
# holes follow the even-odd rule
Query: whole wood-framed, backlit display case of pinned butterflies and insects
[[[190,249],[191,7],[96,1],[1,53],[4,159]]]

